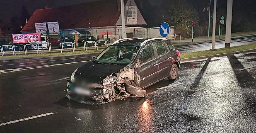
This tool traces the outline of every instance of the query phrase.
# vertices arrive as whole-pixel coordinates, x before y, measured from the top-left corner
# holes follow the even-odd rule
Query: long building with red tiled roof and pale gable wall
[[[124,5],[127,37],[136,36],[136,33],[138,37],[147,37],[146,28],[139,27],[147,23],[134,0],[124,0]],[[105,37],[118,39],[120,34],[122,34],[120,26],[120,0],[102,0],[71,6],[39,9],[34,11],[21,32],[36,32],[35,24],[44,22],[46,24],[47,22],[58,22],[60,32],[63,35],[78,33],[80,36],[86,34],[95,36],[98,39]],[[116,35],[118,36],[116,37]]]

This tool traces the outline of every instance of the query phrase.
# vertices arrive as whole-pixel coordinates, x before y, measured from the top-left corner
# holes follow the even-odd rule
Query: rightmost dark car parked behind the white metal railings
[[[89,42],[87,42],[89,41]],[[78,46],[79,47],[84,47],[84,43],[87,42],[87,47],[90,47],[90,46],[95,46],[95,41],[97,43],[97,39],[94,37],[94,36],[81,36],[79,39],[78,39]],[[84,42],[84,43],[81,43],[81,42]],[[101,45],[104,45],[104,41],[101,41],[98,43],[98,46],[101,46]]]

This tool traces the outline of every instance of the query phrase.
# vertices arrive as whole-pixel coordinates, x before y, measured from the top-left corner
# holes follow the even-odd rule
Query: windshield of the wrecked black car
[[[106,48],[95,58],[95,62],[113,64],[113,65],[127,65],[136,56],[140,47],[113,45]]]

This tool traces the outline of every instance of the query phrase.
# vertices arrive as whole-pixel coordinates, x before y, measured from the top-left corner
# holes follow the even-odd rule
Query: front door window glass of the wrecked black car
[[[154,48],[152,46],[152,44],[147,45],[144,47],[144,49],[142,50],[140,57],[139,57],[139,61],[140,64],[146,63],[152,59],[154,59]]]

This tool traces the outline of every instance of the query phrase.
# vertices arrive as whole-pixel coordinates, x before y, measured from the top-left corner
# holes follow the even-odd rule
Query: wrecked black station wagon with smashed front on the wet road
[[[180,53],[165,38],[125,38],[77,68],[67,81],[67,98],[104,104],[130,95],[148,97],[144,88],[177,78]]]

